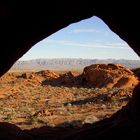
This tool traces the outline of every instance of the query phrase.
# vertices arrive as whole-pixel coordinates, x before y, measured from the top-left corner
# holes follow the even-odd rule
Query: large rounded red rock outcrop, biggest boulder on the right
[[[94,64],[84,68],[86,81],[94,87],[129,88],[137,85],[134,73],[120,64]]]

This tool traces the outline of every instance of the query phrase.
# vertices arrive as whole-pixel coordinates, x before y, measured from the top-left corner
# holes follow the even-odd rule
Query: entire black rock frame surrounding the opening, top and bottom
[[[126,41],[140,56],[139,10],[136,5],[122,3],[91,4],[73,1],[69,3],[5,2],[0,4],[0,76],[3,75],[35,43],[71,23],[93,15],[101,18],[112,31]],[[114,6],[115,5],[115,6]],[[53,12],[50,10],[52,7]],[[131,8],[134,8],[131,10]],[[61,10],[60,10],[61,9]],[[132,100],[111,118],[94,126],[84,126],[76,130],[54,130],[43,127],[20,130],[18,127],[0,123],[1,139],[112,139],[136,138],[140,125],[140,85],[134,90]]]

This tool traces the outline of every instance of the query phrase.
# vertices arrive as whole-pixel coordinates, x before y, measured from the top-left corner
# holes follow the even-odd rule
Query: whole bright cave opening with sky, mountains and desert
[[[0,102],[2,121],[14,123],[22,129],[46,125],[50,127],[81,127],[85,123],[92,124],[110,117],[127,104],[132,96],[133,88],[131,85],[137,82],[129,70],[127,71],[119,65],[109,65],[109,68],[106,68],[107,71],[109,69],[113,71],[114,67],[117,67],[119,70],[116,70],[116,73],[127,71],[127,73],[122,72],[126,75],[119,77],[114,74],[114,77],[118,77],[109,79],[112,75],[105,73],[108,76],[107,81],[99,80],[100,76],[97,77],[99,81],[96,83],[97,87],[93,84],[94,78],[93,81],[86,78],[86,82],[87,80],[92,82],[92,87],[91,83],[86,85],[85,77],[82,77],[84,67],[93,63],[122,63],[131,69],[140,64],[139,57],[124,41],[120,40],[114,33],[104,30],[102,23],[98,21],[100,19],[93,18],[97,22],[93,23],[98,24],[98,28],[94,28],[90,23],[93,19],[89,19],[88,23],[81,23],[78,27],[70,25],[67,27],[70,29],[62,29],[59,31],[59,35],[53,34],[55,39],[52,36],[44,39],[40,44],[37,43],[32,48],[33,50],[31,49],[20,58],[21,61],[11,69],[11,71],[20,72],[20,74],[10,72],[7,77],[2,77],[1,82],[4,81],[4,84],[1,83],[1,92],[4,94],[1,94]],[[66,37],[63,32],[68,36]],[[60,34],[62,35],[60,36]],[[89,35],[83,37],[83,34]],[[101,34],[103,35],[102,39]],[[77,41],[73,40],[76,36]],[[114,39],[115,37],[116,39]],[[46,56],[48,56],[45,58],[47,62],[44,59]],[[30,59],[33,58],[36,59],[37,65],[32,65],[34,61]],[[53,60],[48,62],[51,59]],[[27,62],[26,60],[30,61]],[[55,66],[52,66],[52,63]],[[136,63],[135,66],[134,63]],[[20,69],[21,66],[23,67]],[[50,67],[49,70],[48,67]],[[99,69],[91,74],[96,72],[98,75],[97,72],[100,70],[99,75],[103,77],[103,67],[106,66],[96,65],[96,69],[97,67]],[[31,72],[29,72],[30,70]],[[56,72],[57,70],[59,73]],[[122,86],[124,84],[125,86],[113,87],[109,80],[111,82],[114,80],[116,85]],[[78,83],[79,81],[80,83]],[[82,83],[83,81],[84,83]],[[107,82],[108,87],[102,86],[103,81]],[[7,84],[9,85],[7,86]],[[126,88],[126,85],[130,87]]]

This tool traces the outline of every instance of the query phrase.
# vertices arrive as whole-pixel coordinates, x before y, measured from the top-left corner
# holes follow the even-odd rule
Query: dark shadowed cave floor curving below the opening
[[[133,98],[110,118],[81,127],[48,127],[21,130],[15,124],[0,123],[2,140],[112,140],[139,139],[139,91],[140,84],[133,91]],[[135,106],[134,106],[135,105]],[[137,105],[137,106],[136,106]],[[138,116],[138,117],[137,117]],[[63,124],[64,125],[64,124]]]

